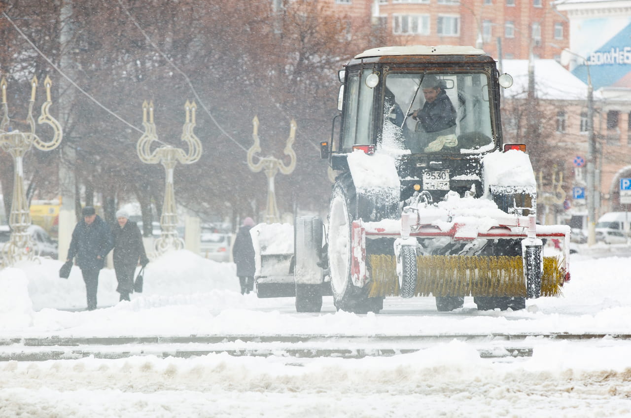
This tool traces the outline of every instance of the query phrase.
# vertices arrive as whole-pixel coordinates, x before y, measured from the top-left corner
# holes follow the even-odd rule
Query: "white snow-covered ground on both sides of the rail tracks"
[[[613,247],[612,247],[613,248]],[[143,294],[118,302],[102,270],[98,305],[82,311],[74,267],[42,260],[0,271],[0,338],[187,335],[631,334],[627,257],[572,254],[563,297],[525,311],[437,313],[431,298],[386,299],[381,314],[296,314],[291,299],[241,296],[235,267],[188,251],[146,268]],[[596,249],[596,250],[598,250]],[[603,256],[604,255],[604,256]],[[339,341],[336,342],[339,345]],[[631,416],[631,344],[606,337],[533,340],[532,357],[491,361],[451,340],[363,359],[283,355],[0,363],[0,417],[624,417]]]

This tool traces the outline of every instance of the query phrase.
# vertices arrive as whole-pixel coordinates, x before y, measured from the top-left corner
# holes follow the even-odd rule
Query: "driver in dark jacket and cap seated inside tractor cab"
[[[416,122],[418,145],[416,152],[437,152],[458,145],[456,139],[456,109],[445,93],[440,80],[433,75],[423,78],[421,86],[425,104],[411,116]]]

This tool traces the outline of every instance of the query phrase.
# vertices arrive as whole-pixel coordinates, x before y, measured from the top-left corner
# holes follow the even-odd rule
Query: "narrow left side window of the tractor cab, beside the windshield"
[[[375,89],[365,83],[366,77],[372,73],[372,69],[365,69],[348,75],[343,110],[342,152],[350,152],[353,145],[372,143]]]

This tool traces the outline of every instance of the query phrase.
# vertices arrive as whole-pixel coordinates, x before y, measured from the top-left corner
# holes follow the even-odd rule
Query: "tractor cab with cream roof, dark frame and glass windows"
[[[344,170],[345,155],[368,145],[403,159],[471,157],[502,145],[497,68],[480,49],[370,49],[339,78],[342,122],[331,144],[333,169]],[[504,79],[510,82],[510,76]],[[426,99],[430,80],[439,91],[440,103],[433,105]],[[429,109],[426,117],[418,115],[423,109]],[[441,116],[449,121],[437,121]]]

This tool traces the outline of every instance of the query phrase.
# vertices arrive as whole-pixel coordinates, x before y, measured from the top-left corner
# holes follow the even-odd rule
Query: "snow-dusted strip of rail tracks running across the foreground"
[[[188,358],[226,353],[233,356],[296,357],[391,356],[425,350],[452,340],[466,342],[483,359],[531,357],[541,343],[567,341],[583,345],[615,342],[631,352],[631,335],[598,333],[490,333],[457,335],[193,335],[190,337],[49,337],[0,339],[0,361],[121,359],[136,355]]]

